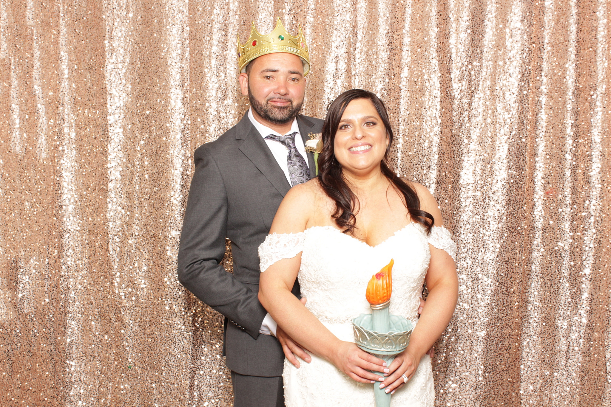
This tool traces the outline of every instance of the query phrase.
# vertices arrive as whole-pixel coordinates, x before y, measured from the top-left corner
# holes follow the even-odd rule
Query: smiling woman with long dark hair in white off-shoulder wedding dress
[[[376,95],[355,89],[338,96],[323,126],[320,176],[287,193],[259,247],[259,299],[312,356],[299,369],[285,361],[289,407],[371,407],[371,383],[397,391],[393,406],[433,406],[426,351],[456,306],[456,246],[431,193],[389,169],[391,143]],[[386,366],[354,344],[351,320],[370,312],[367,283],[390,259],[390,312],[417,325],[408,348]],[[291,294],[297,276],[305,305]],[[424,280],[429,295],[418,319]]]

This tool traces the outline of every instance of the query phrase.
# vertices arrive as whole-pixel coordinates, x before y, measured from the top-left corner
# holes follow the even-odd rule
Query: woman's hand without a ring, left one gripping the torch
[[[375,383],[376,381],[384,380],[379,373],[372,373],[368,370],[384,373],[390,372],[386,362],[360,349],[353,342],[340,341],[340,345],[337,347],[331,362],[337,369],[342,370],[351,379],[360,383]]]

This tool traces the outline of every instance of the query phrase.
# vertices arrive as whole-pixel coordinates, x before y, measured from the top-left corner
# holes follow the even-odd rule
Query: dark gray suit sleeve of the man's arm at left
[[[228,208],[221,171],[205,148],[196,150],[195,165],[180,236],[178,280],[257,339],[267,314],[258,293],[219,264],[225,254]]]

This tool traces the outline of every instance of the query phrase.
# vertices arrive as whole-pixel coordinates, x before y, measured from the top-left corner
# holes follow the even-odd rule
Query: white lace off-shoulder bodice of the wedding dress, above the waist
[[[302,251],[298,278],[307,308],[321,321],[340,323],[370,312],[367,283],[392,258],[390,312],[415,323],[430,260],[428,243],[455,258],[456,244],[443,226],[434,226],[426,236],[423,226],[410,223],[375,247],[332,226],[314,226],[299,233],[269,234],[259,246],[260,269],[265,272],[274,262]]]

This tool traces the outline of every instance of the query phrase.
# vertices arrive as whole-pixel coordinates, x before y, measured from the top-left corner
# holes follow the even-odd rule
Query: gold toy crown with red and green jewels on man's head
[[[304,64],[304,76],[310,72],[310,55],[307,52],[307,43],[305,43],[305,35],[299,32],[296,37],[288,34],[287,30],[282,25],[280,17],[276,22],[276,28],[268,35],[262,35],[257,32],[255,22],[252,22],[251,35],[248,37],[246,44],[240,44],[240,35],[238,35],[238,67],[240,72],[246,72],[246,65],[253,59],[272,52],[288,52],[295,54],[301,58]]]

